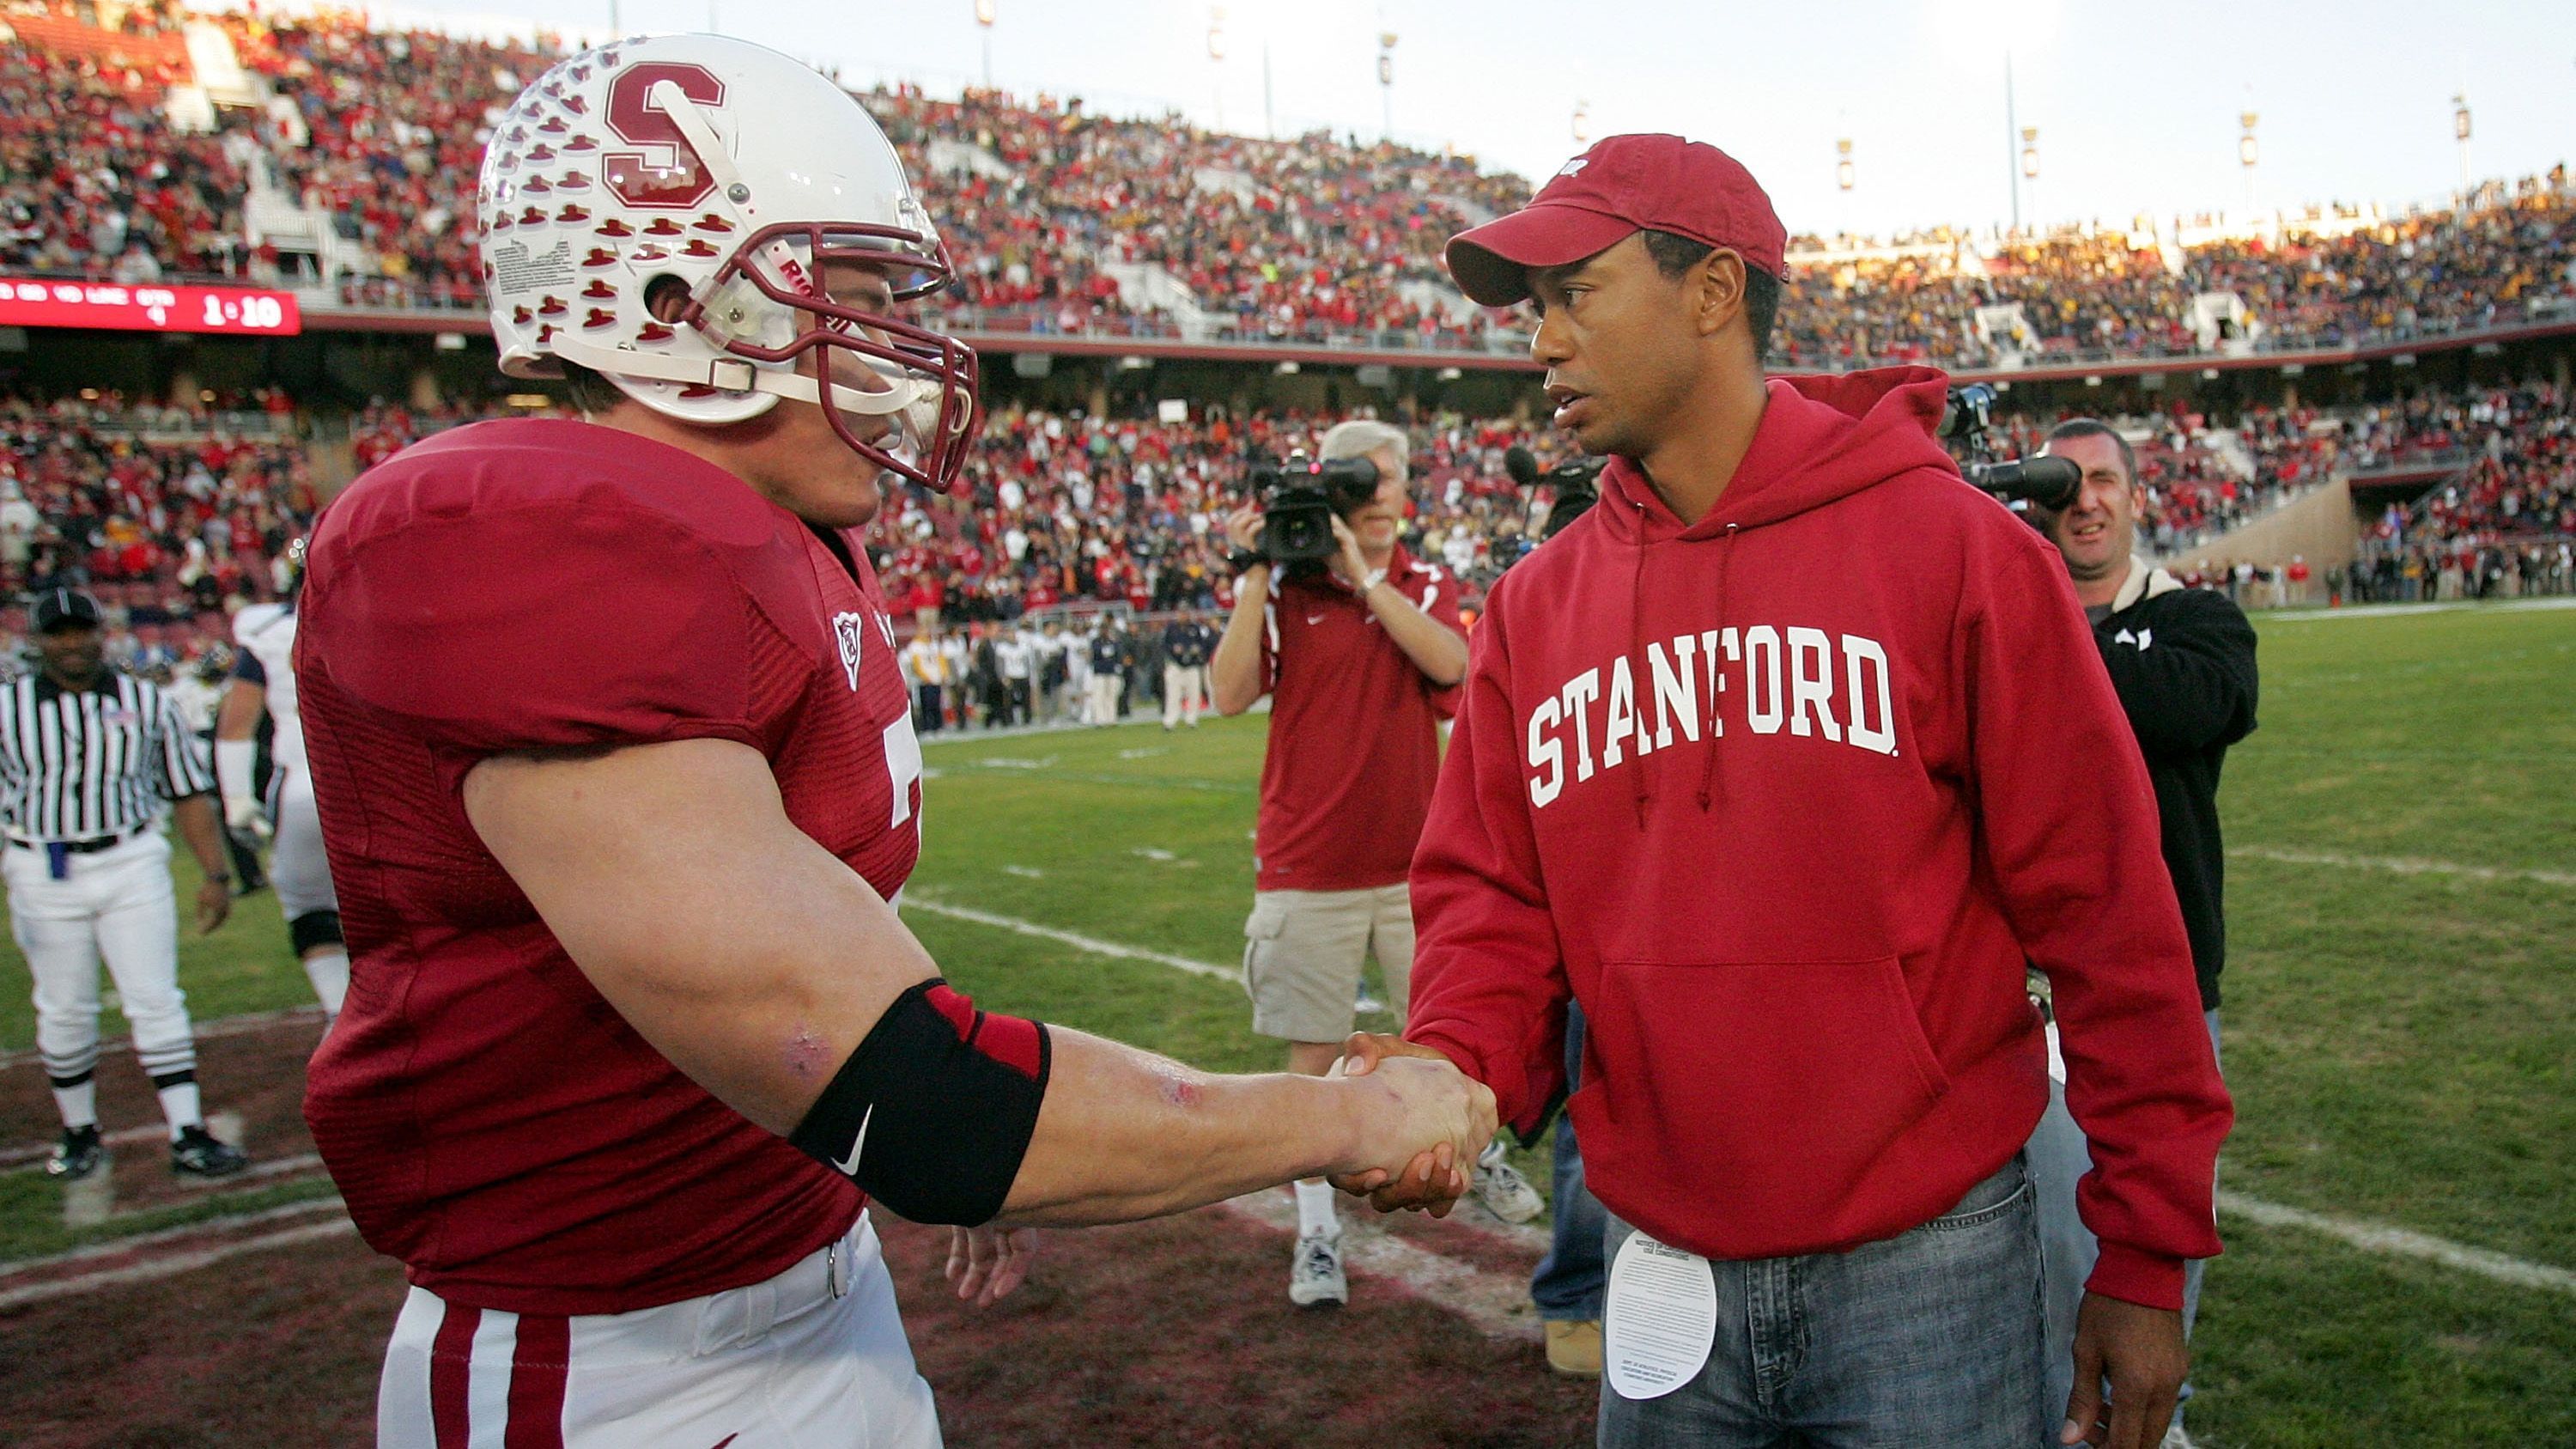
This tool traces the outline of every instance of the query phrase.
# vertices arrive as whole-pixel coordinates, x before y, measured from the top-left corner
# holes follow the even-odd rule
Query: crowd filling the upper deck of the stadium
[[[39,8],[77,13],[59,0]],[[137,13],[142,26],[173,15],[126,10]],[[556,46],[376,28],[355,10],[211,18],[283,106],[224,108],[216,131],[196,137],[160,111],[162,90],[183,80],[170,62],[118,62],[113,46],[106,57],[5,46],[0,260],[258,276],[276,253],[242,240],[242,196],[252,165],[270,165],[368,258],[374,273],[340,278],[345,299],[469,304],[482,137]],[[974,309],[976,325],[1170,333],[1170,317],[1139,315],[1144,294],[1121,291],[1113,268],[1133,263],[1164,268],[1218,335],[1512,345],[1520,333],[1510,315],[1466,307],[1437,263],[1450,232],[1528,196],[1525,180],[1471,157],[1329,134],[1265,142],[1177,116],[1105,119],[1079,98],[935,101],[891,88],[863,101],[922,178],[966,268],[948,307]],[[2205,291],[2236,294],[2267,348],[2576,307],[2576,193],[2563,168],[2488,186],[2460,211],[2331,229],[2192,248],[2110,229],[1932,232],[1837,242],[1837,255],[1808,237],[1790,253],[1777,364],[2192,353],[2205,338],[2190,307]],[[1981,309],[2012,304],[2017,327],[1981,327]]]

